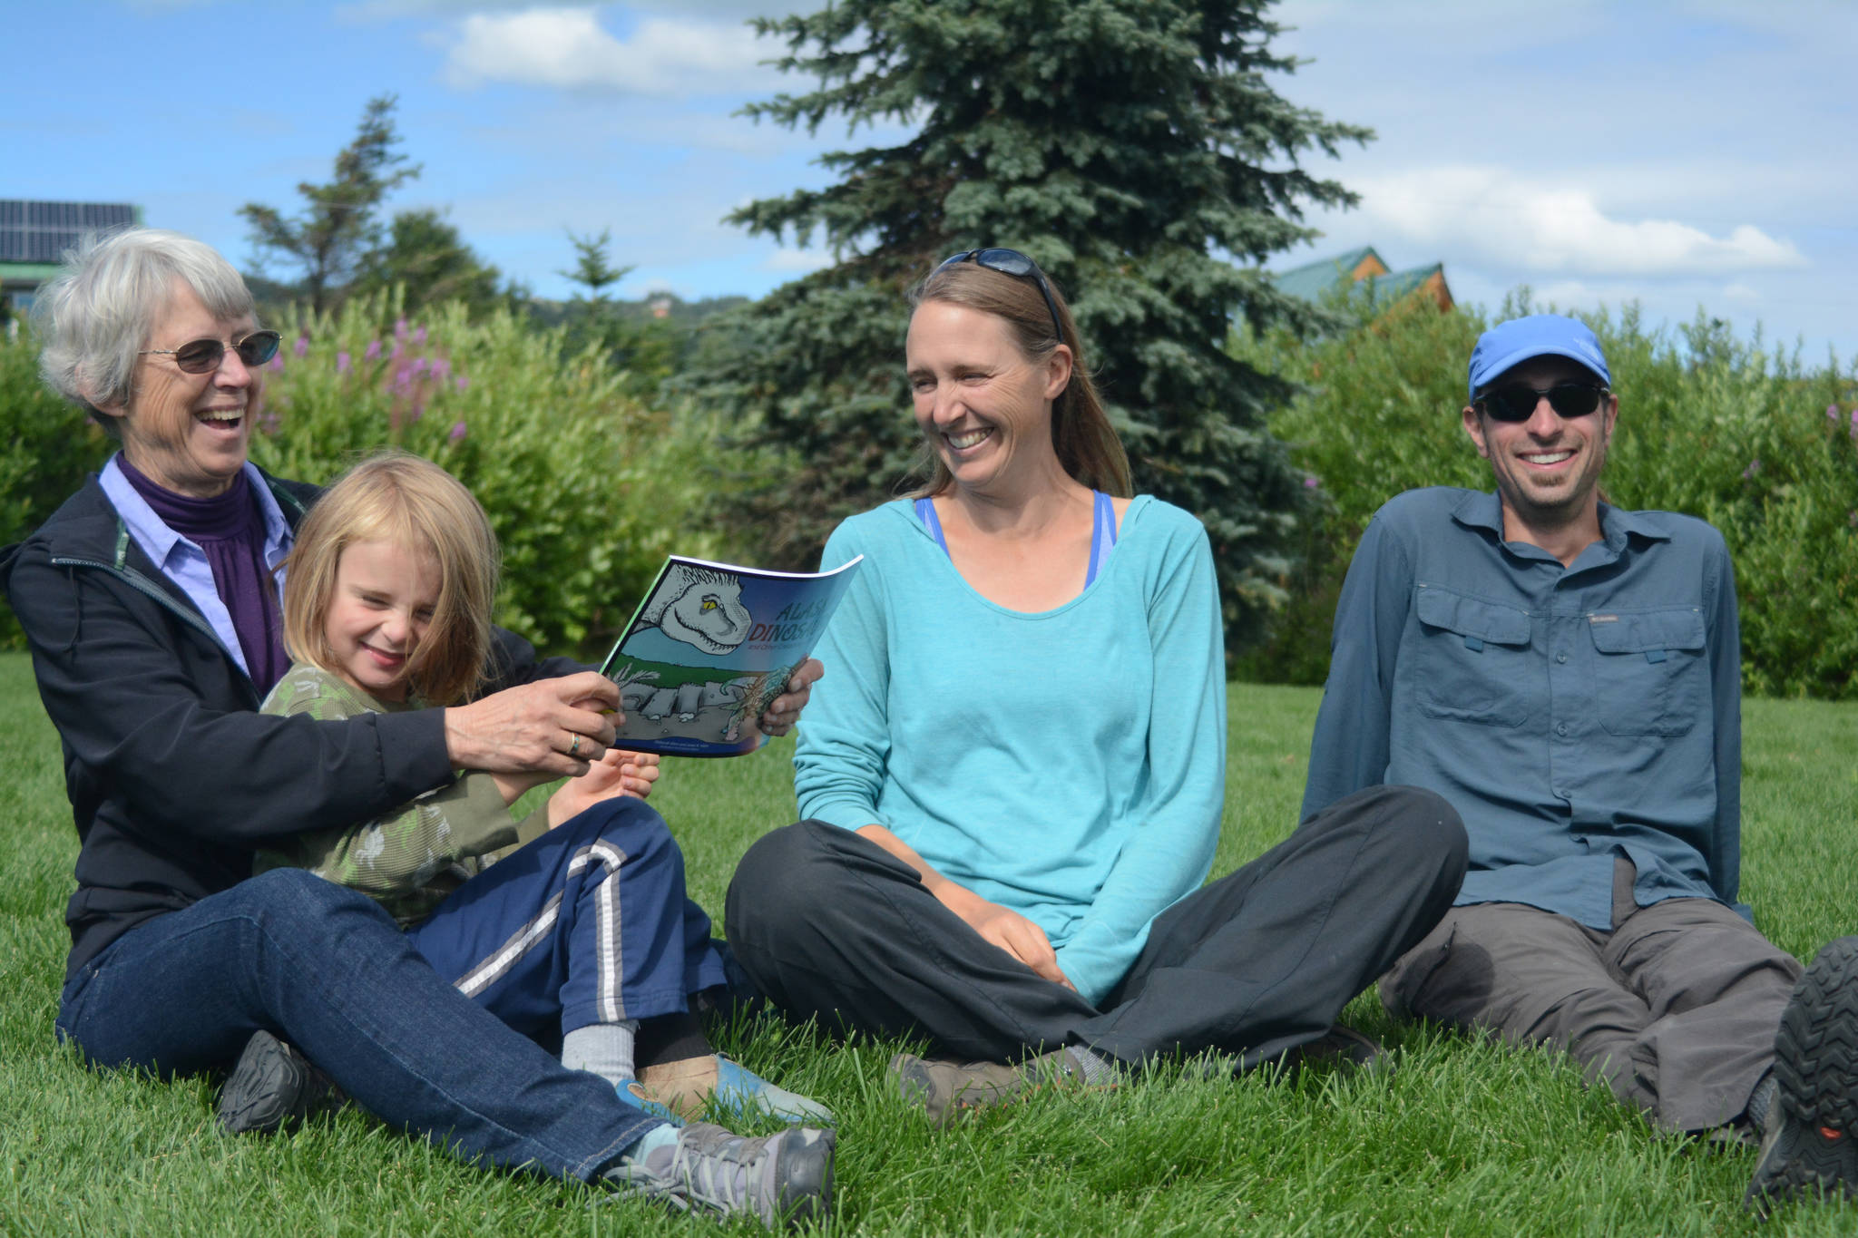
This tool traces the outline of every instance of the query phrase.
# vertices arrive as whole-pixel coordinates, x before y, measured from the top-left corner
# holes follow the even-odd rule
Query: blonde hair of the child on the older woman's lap
[[[381,451],[344,473],[297,527],[286,559],[284,651],[340,676],[325,620],[342,551],[390,542],[438,564],[438,601],[407,663],[425,705],[455,705],[483,683],[500,553],[483,507],[457,477],[405,451]]]

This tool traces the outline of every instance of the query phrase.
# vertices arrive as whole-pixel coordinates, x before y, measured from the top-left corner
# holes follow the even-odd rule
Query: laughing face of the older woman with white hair
[[[186,373],[169,353],[136,358],[128,405],[102,406],[123,431],[123,455],[158,486],[199,499],[225,494],[245,466],[251,418],[264,386],[230,343],[258,329],[251,317],[216,319],[184,282],[149,332],[147,347],[178,349],[219,340],[227,355],[212,373]]]

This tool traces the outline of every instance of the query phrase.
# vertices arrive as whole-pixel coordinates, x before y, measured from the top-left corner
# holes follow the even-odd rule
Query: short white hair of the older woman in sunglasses
[[[100,405],[126,406],[136,355],[149,345],[175,280],[217,319],[256,317],[243,277],[219,251],[180,232],[91,232],[65,251],[63,269],[32,301],[45,347],[39,375],[111,432]]]

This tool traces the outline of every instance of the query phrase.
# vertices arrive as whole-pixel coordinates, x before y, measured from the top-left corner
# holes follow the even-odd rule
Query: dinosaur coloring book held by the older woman
[[[862,561],[812,574],[665,559],[600,664],[626,715],[619,746],[736,757],[765,744],[762,713],[812,653]]]

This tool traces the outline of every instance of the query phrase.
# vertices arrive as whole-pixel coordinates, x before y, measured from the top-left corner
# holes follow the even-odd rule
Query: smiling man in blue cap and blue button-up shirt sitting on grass
[[[1756,1208],[1852,1193],[1858,937],[1802,976],[1735,904],[1735,579],[1702,520],[1602,499],[1611,384],[1570,317],[1479,338],[1462,418],[1496,492],[1410,490],[1362,535],[1302,813],[1410,783],[1464,819],[1470,872],[1390,1012],[1559,1045],[1663,1128],[1761,1136]]]

